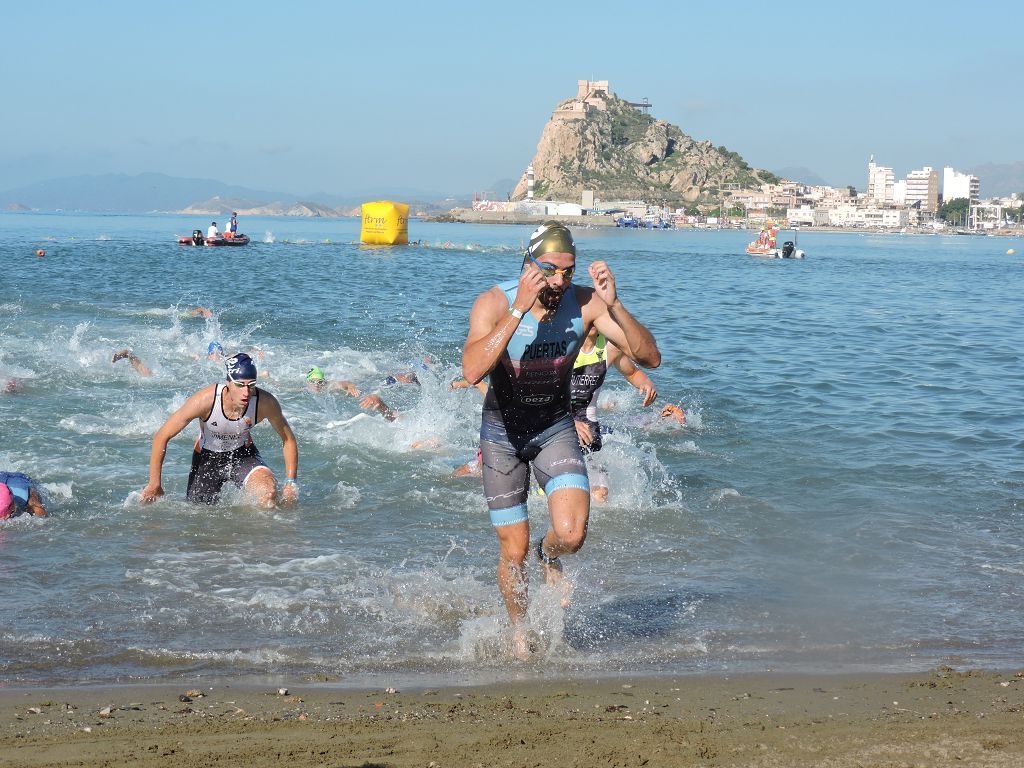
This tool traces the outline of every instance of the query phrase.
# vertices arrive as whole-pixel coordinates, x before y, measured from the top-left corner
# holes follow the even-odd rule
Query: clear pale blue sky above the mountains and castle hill
[[[1024,4],[5,3],[0,189],[157,171],[311,195],[517,177],[607,79],[757,167],[1024,160]]]

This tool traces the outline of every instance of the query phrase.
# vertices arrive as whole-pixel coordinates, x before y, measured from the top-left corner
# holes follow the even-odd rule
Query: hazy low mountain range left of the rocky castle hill
[[[464,204],[470,197],[459,196],[458,204]],[[381,199],[400,200],[413,205],[414,209],[426,211],[446,211],[457,204],[453,202],[455,199],[444,195],[409,187],[368,189],[358,195],[297,196],[225,184],[215,179],[179,178],[163,173],[135,176],[108,173],[67,176],[0,191],[0,210],[96,213],[258,210],[263,215],[325,215],[324,211],[339,208],[344,211]],[[319,213],[303,213],[304,210]]]

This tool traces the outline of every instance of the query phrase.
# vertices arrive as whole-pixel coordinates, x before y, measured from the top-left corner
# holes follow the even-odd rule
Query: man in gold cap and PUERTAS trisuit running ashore
[[[512,625],[513,653],[529,657],[526,499],[530,469],[547,495],[551,525],[532,548],[545,581],[562,578],[559,558],[583,547],[590,483],[573,427],[569,378],[580,345],[597,326],[645,368],[662,361],[651,333],[623,304],[604,261],[590,265],[593,288],[573,285],[575,245],[546,221],[529,239],[518,280],[481,293],[469,316],[462,370],[489,387],[480,420],[483,492],[498,536],[498,587]]]

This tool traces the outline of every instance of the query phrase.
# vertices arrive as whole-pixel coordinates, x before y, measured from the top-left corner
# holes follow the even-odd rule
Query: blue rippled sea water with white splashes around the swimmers
[[[1024,261],[996,238],[578,228],[654,333],[659,394],[608,375],[610,497],[566,557],[566,610],[531,566],[543,652],[510,664],[475,453],[453,390],[476,295],[528,227],[248,219],[245,248],[178,246],[174,216],[0,215],[0,469],[52,516],[0,522],[0,680],[381,679],[433,685],[638,672],[1007,667],[1024,655]],[[786,237],[792,237],[783,233]],[[46,255],[38,258],[37,249]],[[208,307],[209,318],[189,316]],[[300,504],[184,501],[196,424],[140,506],[151,440],[262,355],[299,442]],[[154,374],[112,354],[130,348]],[[313,366],[401,416],[353,419]],[[385,384],[414,371],[419,385]],[[667,402],[687,423],[658,419]],[[254,430],[283,475],[271,427]],[[547,525],[532,495],[536,538]]]

